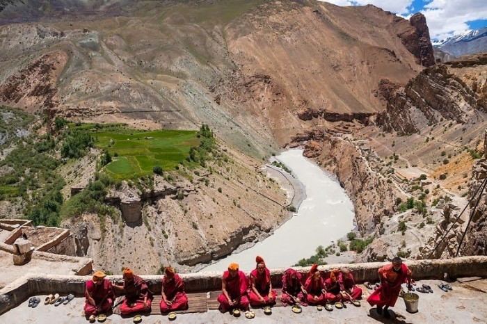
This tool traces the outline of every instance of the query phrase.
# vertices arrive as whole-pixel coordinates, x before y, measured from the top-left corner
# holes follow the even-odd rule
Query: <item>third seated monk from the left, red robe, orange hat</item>
[[[184,282],[181,277],[174,272],[174,269],[167,267],[164,269],[165,276],[162,279],[162,300],[161,312],[177,311],[188,309],[188,298],[184,293]]]

